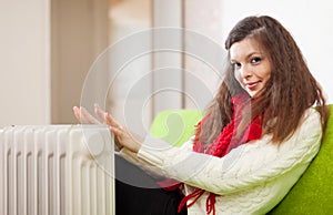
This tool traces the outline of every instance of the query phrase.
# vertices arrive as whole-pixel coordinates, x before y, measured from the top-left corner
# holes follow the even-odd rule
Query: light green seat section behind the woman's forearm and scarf
[[[201,119],[199,110],[162,111],[154,117],[150,134],[179,147],[194,134]]]

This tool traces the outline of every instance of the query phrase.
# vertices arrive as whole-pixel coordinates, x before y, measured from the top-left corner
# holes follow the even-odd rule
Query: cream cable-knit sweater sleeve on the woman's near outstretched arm
[[[271,143],[270,135],[264,135],[224,157],[215,157],[148,137],[138,156],[169,177],[224,195],[268,183],[300,167],[305,170],[319,152],[321,136],[320,115],[310,109],[300,127],[280,146]]]

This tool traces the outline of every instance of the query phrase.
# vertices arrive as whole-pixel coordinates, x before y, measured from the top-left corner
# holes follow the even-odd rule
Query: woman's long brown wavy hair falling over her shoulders
[[[316,105],[324,131],[327,120],[325,98],[291,33],[271,17],[248,17],[231,30],[225,49],[229,51],[233,43],[250,37],[261,44],[262,51],[269,57],[272,71],[260,96],[251,99],[251,108],[243,112],[246,121],[243,124],[246,125],[259,115],[264,134],[272,134],[272,142],[280,144],[297,129],[305,110]],[[228,61],[225,76],[206,110],[209,114],[202,122],[198,136],[205,145],[212,143],[231,121],[231,98],[238,93],[246,93],[236,81],[229,58]]]

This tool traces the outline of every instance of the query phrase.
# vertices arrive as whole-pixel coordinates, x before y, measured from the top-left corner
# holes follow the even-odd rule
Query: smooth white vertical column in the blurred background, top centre
[[[182,2],[179,0],[153,0],[153,28],[182,27]],[[155,31],[153,49],[172,48],[173,52],[153,53],[153,115],[165,109],[182,109],[182,32],[176,30]],[[165,81],[168,80],[168,81]]]

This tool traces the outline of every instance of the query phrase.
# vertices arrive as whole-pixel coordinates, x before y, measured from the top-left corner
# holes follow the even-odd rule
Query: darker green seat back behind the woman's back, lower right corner
[[[333,104],[329,105],[333,113]],[[321,150],[300,181],[269,214],[333,213],[333,114],[330,115]]]

